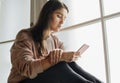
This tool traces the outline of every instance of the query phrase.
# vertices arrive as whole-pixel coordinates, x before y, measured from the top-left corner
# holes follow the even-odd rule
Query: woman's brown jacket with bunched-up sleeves
[[[63,44],[56,36],[52,36],[54,48],[62,48]],[[45,56],[40,56],[32,39],[29,30],[21,30],[16,36],[11,48],[11,72],[8,83],[19,83],[25,78],[34,78],[38,73],[43,72],[42,60]]]

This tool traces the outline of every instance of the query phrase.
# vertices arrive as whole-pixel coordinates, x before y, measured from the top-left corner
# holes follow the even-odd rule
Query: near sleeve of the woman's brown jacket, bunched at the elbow
[[[22,76],[34,78],[43,72],[42,59],[35,59],[33,44],[26,33],[19,33],[11,48],[11,62],[13,68]]]

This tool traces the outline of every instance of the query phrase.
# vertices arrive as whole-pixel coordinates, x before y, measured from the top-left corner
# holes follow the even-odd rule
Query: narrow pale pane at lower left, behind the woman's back
[[[0,44],[0,82],[7,83],[11,68],[10,48],[12,43]]]

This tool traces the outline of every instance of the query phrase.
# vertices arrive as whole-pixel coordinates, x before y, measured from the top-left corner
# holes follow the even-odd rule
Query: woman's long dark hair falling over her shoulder
[[[33,40],[38,44],[39,51],[44,49],[43,32],[48,28],[50,19],[55,10],[65,8],[69,12],[67,6],[59,0],[49,0],[42,8],[37,23],[31,28]]]

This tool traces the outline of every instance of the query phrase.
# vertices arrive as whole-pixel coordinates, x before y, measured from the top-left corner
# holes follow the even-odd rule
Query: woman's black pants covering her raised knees
[[[75,62],[60,62],[40,73],[34,79],[25,79],[20,83],[102,83],[85,72]]]

